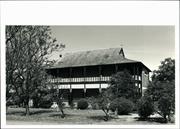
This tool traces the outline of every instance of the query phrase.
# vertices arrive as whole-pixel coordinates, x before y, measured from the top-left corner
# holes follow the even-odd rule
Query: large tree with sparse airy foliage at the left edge
[[[54,63],[49,56],[61,48],[49,26],[6,26],[6,100],[14,90],[29,115],[33,93],[47,86],[45,67]]]

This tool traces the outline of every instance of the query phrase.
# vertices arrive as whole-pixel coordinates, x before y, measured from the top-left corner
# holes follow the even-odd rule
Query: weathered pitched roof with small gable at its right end
[[[60,61],[54,64],[54,66],[52,66],[51,68],[67,68],[122,63],[141,62],[125,58],[122,48],[109,48],[67,53],[62,57]],[[148,69],[148,71],[150,70]]]

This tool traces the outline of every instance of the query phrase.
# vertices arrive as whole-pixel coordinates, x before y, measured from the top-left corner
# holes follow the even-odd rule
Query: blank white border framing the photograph
[[[178,1],[1,1],[2,128],[179,128]],[[175,26],[175,125],[6,125],[6,25],[167,25]],[[4,118],[4,119],[3,119]]]

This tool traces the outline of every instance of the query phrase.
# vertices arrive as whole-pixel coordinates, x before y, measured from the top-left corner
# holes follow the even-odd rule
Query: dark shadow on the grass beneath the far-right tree
[[[167,123],[162,117],[146,118],[146,119],[142,119],[142,118],[136,117],[135,119],[136,119],[137,121],[147,121],[147,122]]]

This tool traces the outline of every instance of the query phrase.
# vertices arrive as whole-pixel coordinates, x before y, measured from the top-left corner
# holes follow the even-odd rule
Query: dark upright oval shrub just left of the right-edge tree
[[[150,97],[142,97],[137,103],[138,115],[140,118],[147,118],[154,112],[154,105]]]

